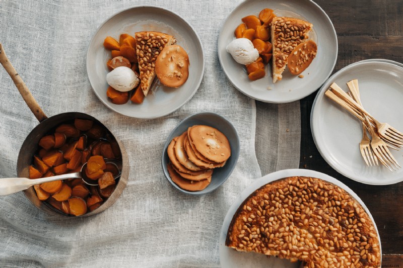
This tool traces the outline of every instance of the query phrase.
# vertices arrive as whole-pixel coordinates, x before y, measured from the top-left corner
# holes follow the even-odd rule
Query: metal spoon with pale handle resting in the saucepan
[[[117,167],[117,170],[119,170],[119,173],[114,176],[115,180],[118,177],[120,177],[121,170],[122,170],[122,162],[120,162],[119,160],[116,160],[116,159],[105,158],[105,163],[111,163]],[[35,178],[35,179],[30,179],[30,178],[26,178],[26,177],[2,178],[2,179],[0,179],[0,196],[7,196],[7,195],[11,195],[11,194],[20,192],[20,191],[24,191],[34,185],[49,183],[49,182],[54,182],[54,181],[60,181],[60,180],[66,180],[68,178],[82,178],[83,182],[85,184],[88,184],[91,186],[98,186],[97,180],[91,180],[90,178],[88,178],[86,176],[86,174],[85,174],[86,167],[87,167],[87,163],[85,163],[81,167],[80,172],[62,174],[62,175],[51,176],[51,177],[42,177],[42,178]]]

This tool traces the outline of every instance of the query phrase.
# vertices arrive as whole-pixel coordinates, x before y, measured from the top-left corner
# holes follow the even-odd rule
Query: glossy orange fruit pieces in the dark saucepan
[[[45,201],[57,210],[74,216],[100,207],[115,189],[110,180],[119,170],[104,158],[121,159],[119,145],[108,131],[92,120],[75,119],[57,126],[39,140],[29,177],[49,177],[56,174],[80,172],[84,163],[91,169],[85,172],[99,186],[86,185],[81,178],[70,178],[35,185],[40,201]],[[99,167],[99,168],[97,168]]]

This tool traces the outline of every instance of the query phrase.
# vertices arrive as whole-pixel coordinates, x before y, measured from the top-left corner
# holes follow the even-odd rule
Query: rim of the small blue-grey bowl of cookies
[[[227,177],[224,178],[224,180],[222,180],[222,181],[221,181],[219,184],[217,184],[215,187],[209,189],[208,191],[205,191],[207,188],[204,189],[204,190],[195,191],[195,192],[183,190],[182,188],[180,188],[179,186],[177,186],[174,182],[172,182],[172,179],[171,179],[171,177],[170,177],[170,175],[169,175],[169,173],[168,173],[168,170],[167,170],[166,166],[164,166],[164,156],[167,154],[167,148],[168,148],[169,143],[171,142],[171,141],[169,140],[169,137],[170,137],[170,136],[173,136],[172,134],[178,129],[179,126],[181,126],[184,122],[190,120],[192,117],[195,117],[195,116],[214,116],[214,117],[217,117],[217,118],[219,118],[220,120],[226,122],[226,123],[230,126],[230,130],[235,134],[235,141],[236,141],[235,143],[236,143],[236,144],[231,144],[231,143],[230,143],[230,146],[231,146],[231,147],[237,146],[237,147],[239,148],[239,150],[237,150],[237,152],[236,152],[235,154],[232,154],[232,153],[231,153],[231,157],[234,157],[234,158],[235,158],[235,161],[234,161],[234,163],[232,164],[232,166],[229,167],[230,172],[229,172],[229,174],[227,175]],[[220,130],[220,129],[219,129],[219,130]],[[220,131],[221,131],[221,130],[220,130]],[[231,152],[232,152],[232,150],[231,150]],[[232,172],[233,172],[234,169],[235,169],[235,166],[236,166],[236,164],[237,164],[237,162],[238,162],[239,155],[240,155],[240,138],[239,138],[238,132],[237,132],[236,128],[234,127],[234,125],[233,125],[227,118],[225,118],[224,116],[222,116],[222,115],[220,115],[220,114],[218,114],[218,113],[215,113],[215,112],[199,112],[199,113],[192,114],[192,115],[186,117],[185,119],[183,119],[182,121],[180,121],[180,122],[176,125],[176,127],[173,128],[172,131],[169,133],[169,135],[167,136],[165,145],[164,145],[164,149],[163,149],[163,151],[162,151],[161,165],[162,165],[162,170],[163,170],[163,172],[164,172],[165,178],[168,180],[168,182],[169,182],[173,187],[175,187],[177,190],[179,190],[180,192],[182,192],[182,193],[184,193],[184,194],[191,195],[191,196],[200,196],[200,195],[209,194],[209,193],[215,191],[216,189],[218,189],[222,184],[224,184],[224,183],[228,180],[228,178],[230,177],[230,175],[232,174]]]

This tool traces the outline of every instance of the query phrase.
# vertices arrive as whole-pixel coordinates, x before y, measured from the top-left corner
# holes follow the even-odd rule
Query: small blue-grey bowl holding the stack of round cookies
[[[206,187],[206,189],[197,192],[190,192],[183,190],[182,188],[177,186],[174,182],[172,182],[167,169],[167,165],[169,163],[167,148],[169,143],[172,141],[174,137],[179,136],[183,132],[187,131],[188,127],[194,125],[211,126],[224,133],[224,135],[227,136],[231,146],[231,156],[230,158],[228,158],[227,163],[223,167],[214,168],[211,183],[208,187]],[[227,178],[231,175],[232,170],[234,170],[236,162],[238,161],[239,150],[240,150],[239,136],[238,133],[236,132],[236,129],[234,128],[234,126],[231,124],[230,121],[228,121],[227,119],[216,113],[211,112],[198,113],[184,119],[182,122],[178,124],[178,126],[174,130],[172,130],[171,134],[169,134],[164,146],[164,151],[162,153],[162,169],[164,170],[164,174],[167,180],[179,191],[194,196],[203,195],[213,192],[218,187],[220,187],[225,181],[227,181]]]

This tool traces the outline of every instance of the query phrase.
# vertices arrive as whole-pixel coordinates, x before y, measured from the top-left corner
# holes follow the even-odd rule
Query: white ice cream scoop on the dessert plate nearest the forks
[[[250,64],[259,57],[259,52],[247,38],[234,39],[227,46],[227,52],[234,60],[241,64]]]

